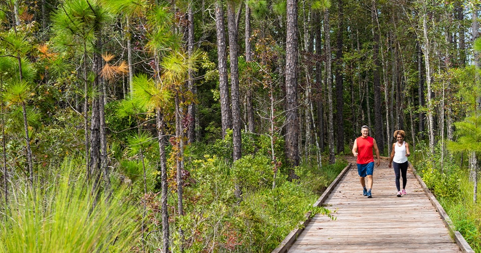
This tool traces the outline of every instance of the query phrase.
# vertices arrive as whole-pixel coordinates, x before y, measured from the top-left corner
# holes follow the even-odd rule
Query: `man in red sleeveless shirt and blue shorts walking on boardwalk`
[[[369,136],[369,127],[363,125],[361,128],[361,136],[354,140],[352,146],[352,154],[357,157],[357,174],[359,175],[359,182],[363,186],[363,195],[372,198],[371,190],[373,188],[373,172],[374,172],[374,152],[376,152],[376,166],[381,164],[379,149],[377,148],[376,140]],[[366,188],[366,179],[368,178],[368,187]]]

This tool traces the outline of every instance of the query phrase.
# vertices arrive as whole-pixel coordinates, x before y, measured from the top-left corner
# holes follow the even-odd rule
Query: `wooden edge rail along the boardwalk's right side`
[[[437,213],[443,219],[443,222],[445,223],[446,227],[449,229],[450,234],[454,237],[454,240],[458,244],[459,248],[463,252],[469,252],[469,253],[474,253],[474,250],[469,246],[468,242],[464,239],[463,235],[459,233],[459,231],[455,230],[455,227],[453,225],[453,222],[451,221],[451,218],[449,218],[448,214],[444,210],[443,206],[439,204],[437,201],[436,197],[432,194],[432,192],[427,188],[426,184],[424,181],[421,179],[421,177],[418,175],[418,172],[414,168],[414,166],[409,163],[409,167],[411,170],[413,170],[413,174],[418,180],[419,184],[421,184],[421,187],[423,188],[424,192],[428,196],[429,200],[431,201],[432,205],[436,207]]]

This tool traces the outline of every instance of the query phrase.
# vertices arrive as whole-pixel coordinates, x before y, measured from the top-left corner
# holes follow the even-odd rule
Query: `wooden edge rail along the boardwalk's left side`
[[[344,169],[341,171],[341,173],[339,173],[337,178],[334,179],[334,181],[332,181],[331,185],[329,185],[329,187],[324,191],[323,195],[321,195],[317,199],[317,201],[313,204],[313,206],[318,207],[326,200],[326,198],[329,196],[329,194],[331,194],[334,187],[336,187],[336,185],[339,183],[341,178],[344,177],[344,174],[346,174],[347,170],[349,170],[349,168],[351,166],[352,166],[352,163],[349,163],[349,164],[347,164],[346,167],[344,167]],[[300,222],[299,225],[297,226],[297,228],[293,229],[286,236],[286,238],[284,238],[284,240],[282,242],[280,242],[280,244],[274,250],[272,250],[272,253],[287,252],[287,250],[292,246],[294,241],[296,241],[297,236],[299,236],[299,234],[304,230],[304,228],[306,227],[306,225],[309,223],[310,220],[311,220],[311,212],[309,211],[305,215],[305,220],[303,222]]]

